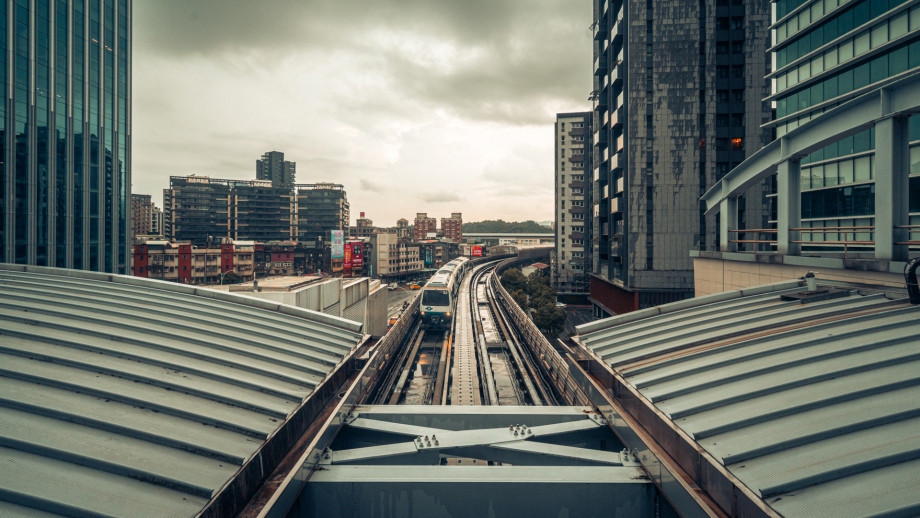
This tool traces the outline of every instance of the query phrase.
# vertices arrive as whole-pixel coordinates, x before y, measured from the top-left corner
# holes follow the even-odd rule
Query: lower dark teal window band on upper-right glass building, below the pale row
[[[899,45],[872,61],[863,62],[827,77],[794,94],[777,99],[777,118],[806,110],[837,96],[859,90],[909,69],[920,67],[920,40]]]

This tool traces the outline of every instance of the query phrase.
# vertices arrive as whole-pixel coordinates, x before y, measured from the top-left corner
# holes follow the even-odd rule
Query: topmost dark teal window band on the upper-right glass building
[[[812,50],[834,41],[840,36],[843,36],[869,20],[873,20],[885,14],[889,9],[893,9],[906,1],[907,0],[858,0],[852,2],[850,7],[841,10],[829,20],[810,27],[808,23],[812,20],[810,14],[811,9],[803,10],[776,29],[777,42],[788,39],[781,37],[783,36],[784,28],[788,37],[791,37],[800,28],[805,29],[807,27],[808,29],[804,33],[796,35],[792,42],[776,51],[776,67],[781,68],[786,66],[787,63],[792,63]],[[807,19],[808,21],[799,25],[799,18]]]

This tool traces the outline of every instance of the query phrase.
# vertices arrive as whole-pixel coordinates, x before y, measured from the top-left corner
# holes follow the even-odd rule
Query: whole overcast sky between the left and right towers
[[[589,0],[134,2],[134,193],[345,186],[352,221],[553,219],[555,114],[590,110]]]

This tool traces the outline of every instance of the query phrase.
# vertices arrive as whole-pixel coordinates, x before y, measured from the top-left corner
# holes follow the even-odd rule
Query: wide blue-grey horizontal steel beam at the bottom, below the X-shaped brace
[[[632,467],[324,468],[307,484],[299,516],[656,515],[654,486],[645,472]]]

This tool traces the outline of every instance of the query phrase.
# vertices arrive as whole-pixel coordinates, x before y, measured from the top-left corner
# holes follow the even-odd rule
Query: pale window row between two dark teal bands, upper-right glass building
[[[825,70],[830,70],[837,65],[846,63],[854,57],[860,56],[871,49],[884,45],[916,29],[920,29],[920,6],[914,7],[910,13],[908,13],[908,11],[903,11],[897,16],[876,24],[871,29],[866,29],[852,38],[847,38],[811,60],[792,68],[784,74],[776,76],[775,93],[782,92],[786,88],[792,88],[812,76],[816,76]],[[813,49],[814,48],[817,47],[813,47]],[[809,49],[809,51],[810,50],[811,49]],[[780,52],[777,53],[777,68],[780,68],[778,65],[780,62]],[[808,52],[805,52],[802,55],[807,53]],[[791,61],[792,60],[788,62]]]

